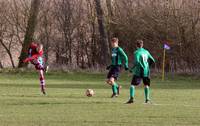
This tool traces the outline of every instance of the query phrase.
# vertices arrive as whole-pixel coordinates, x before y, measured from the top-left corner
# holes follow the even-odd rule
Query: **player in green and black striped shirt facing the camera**
[[[112,98],[119,95],[120,86],[116,83],[119,76],[122,63],[124,62],[125,70],[128,70],[128,57],[121,47],[118,46],[118,38],[112,38],[112,64],[107,67],[107,83],[112,86]]]

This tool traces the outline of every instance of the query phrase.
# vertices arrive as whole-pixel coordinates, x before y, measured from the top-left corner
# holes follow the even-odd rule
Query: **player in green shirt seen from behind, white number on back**
[[[145,93],[145,103],[148,103],[150,101],[149,94],[149,86],[150,86],[150,68],[149,66],[154,63],[155,60],[147,51],[143,48],[143,41],[138,40],[137,41],[137,50],[134,52],[134,66],[130,70],[133,73],[133,79],[130,86],[130,99],[127,102],[128,104],[131,104],[134,102],[134,96],[135,96],[135,86],[139,85],[141,83],[141,80],[143,80],[144,83],[144,93]]]

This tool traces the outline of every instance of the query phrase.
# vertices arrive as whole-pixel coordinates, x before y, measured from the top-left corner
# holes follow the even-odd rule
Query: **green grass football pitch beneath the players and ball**
[[[1,73],[0,126],[200,126],[200,80],[154,77],[153,104],[143,104],[140,86],[136,103],[126,105],[131,78],[125,75],[120,97],[111,99],[103,74],[49,73],[43,96],[36,73]],[[87,88],[94,97],[84,95]]]

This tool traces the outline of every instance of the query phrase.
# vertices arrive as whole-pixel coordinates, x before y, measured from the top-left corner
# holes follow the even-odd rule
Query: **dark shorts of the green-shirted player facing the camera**
[[[113,77],[115,78],[115,80],[117,80],[119,77],[120,69],[120,66],[112,66],[110,68],[110,71],[108,72],[107,78],[110,79],[111,77]]]

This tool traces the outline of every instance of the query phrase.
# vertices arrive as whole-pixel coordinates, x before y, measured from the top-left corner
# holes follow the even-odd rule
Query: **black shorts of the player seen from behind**
[[[149,77],[139,77],[139,76],[133,76],[131,85],[137,86],[139,85],[143,80],[144,85],[150,86],[150,78]]]

